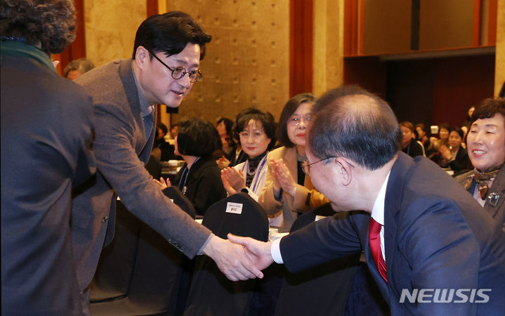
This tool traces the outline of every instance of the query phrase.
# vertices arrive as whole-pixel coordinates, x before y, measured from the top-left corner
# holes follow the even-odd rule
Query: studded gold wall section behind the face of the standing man
[[[192,15],[212,35],[203,78],[173,122],[235,119],[247,107],[278,119],[289,98],[289,0],[169,0],[166,10]]]

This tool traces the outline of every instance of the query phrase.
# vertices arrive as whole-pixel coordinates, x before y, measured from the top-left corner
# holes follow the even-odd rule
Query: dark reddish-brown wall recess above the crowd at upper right
[[[460,126],[469,107],[493,96],[494,55],[388,62],[387,72],[400,121]]]

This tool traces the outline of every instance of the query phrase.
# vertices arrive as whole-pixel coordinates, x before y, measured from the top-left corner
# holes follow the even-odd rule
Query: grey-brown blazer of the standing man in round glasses
[[[126,209],[183,254],[195,256],[211,232],[165,197],[144,167],[155,131],[145,139],[131,59],[86,72],[76,82],[93,97],[93,150],[98,166],[96,178],[77,192],[72,209],[72,242],[80,289],[90,284],[104,242],[112,239],[116,194]]]

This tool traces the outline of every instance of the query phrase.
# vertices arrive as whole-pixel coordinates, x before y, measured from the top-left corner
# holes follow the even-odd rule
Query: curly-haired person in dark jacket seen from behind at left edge
[[[96,171],[92,102],[49,58],[74,40],[72,1],[43,2],[0,4],[1,315],[82,310],[70,212]]]

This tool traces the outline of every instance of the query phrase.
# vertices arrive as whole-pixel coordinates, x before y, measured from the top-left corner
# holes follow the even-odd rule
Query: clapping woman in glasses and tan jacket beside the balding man
[[[303,171],[306,131],[315,96],[301,93],[289,99],[280,114],[277,139],[284,145],[268,154],[268,172],[258,199],[270,225],[289,230],[298,213],[329,202],[315,190]],[[308,171],[308,166],[306,166]]]

